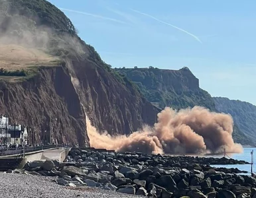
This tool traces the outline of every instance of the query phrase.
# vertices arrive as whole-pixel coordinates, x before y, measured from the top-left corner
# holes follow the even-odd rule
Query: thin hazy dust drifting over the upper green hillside
[[[16,9],[13,2],[15,1],[0,0],[1,48],[7,48],[7,51],[10,51],[9,48],[11,48],[12,52],[19,51],[19,53],[29,51],[30,56],[34,55],[34,59],[39,60],[38,50],[49,56],[54,56],[55,59],[68,55],[73,55],[74,59],[86,57],[88,50],[83,47],[82,41],[76,34],[70,33],[74,32],[75,27],[68,18],[64,18],[66,24],[59,24],[57,27],[57,25],[54,26],[56,18],[49,19],[41,16],[44,14],[50,17],[50,13],[40,13],[40,16],[39,14],[37,16],[36,13],[25,14],[23,9]],[[19,5],[19,3],[17,4]],[[66,17],[61,13],[58,15]],[[26,57],[26,54],[21,57]],[[38,61],[38,64],[40,62]]]

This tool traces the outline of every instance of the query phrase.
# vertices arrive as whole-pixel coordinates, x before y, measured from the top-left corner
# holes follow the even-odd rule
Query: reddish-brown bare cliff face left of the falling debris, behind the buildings
[[[52,137],[58,143],[89,142],[78,94],[62,67],[38,69],[38,74],[27,81],[1,81],[0,108],[11,123],[34,127],[36,143],[42,137],[48,142],[50,123]],[[42,131],[46,133],[43,135]]]

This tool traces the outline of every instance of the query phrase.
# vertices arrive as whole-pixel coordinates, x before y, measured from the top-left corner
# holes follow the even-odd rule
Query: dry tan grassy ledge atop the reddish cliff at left
[[[38,67],[56,67],[62,60],[40,49],[11,44],[0,46],[0,79],[17,82],[36,75]]]

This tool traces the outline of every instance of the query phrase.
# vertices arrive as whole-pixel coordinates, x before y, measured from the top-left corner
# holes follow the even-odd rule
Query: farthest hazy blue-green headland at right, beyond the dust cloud
[[[256,140],[256,106],[241,100],[214,97],[216,109],[225,114],[230,114],[237,126],[253,141]]]

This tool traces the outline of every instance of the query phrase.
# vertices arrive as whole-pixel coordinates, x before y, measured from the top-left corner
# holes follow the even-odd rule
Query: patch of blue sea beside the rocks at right
[[[256,148],[243,148],[242,153],[229,153],[227,154],[226,158],[233,158],[235,160],[245,160],[246,162],[251,163],[251,151],[253,151],[253,172],[256,172]],[[211,155],[208,155],[210,157]],[[212,157],[223,157],[224,155],[216,156],[213,155]],[[239,170],[247,171],[248,174],[251,173],[251,164],[232,164],[232,165],[212,165],[213,167],[219,168],[238,168]]]

